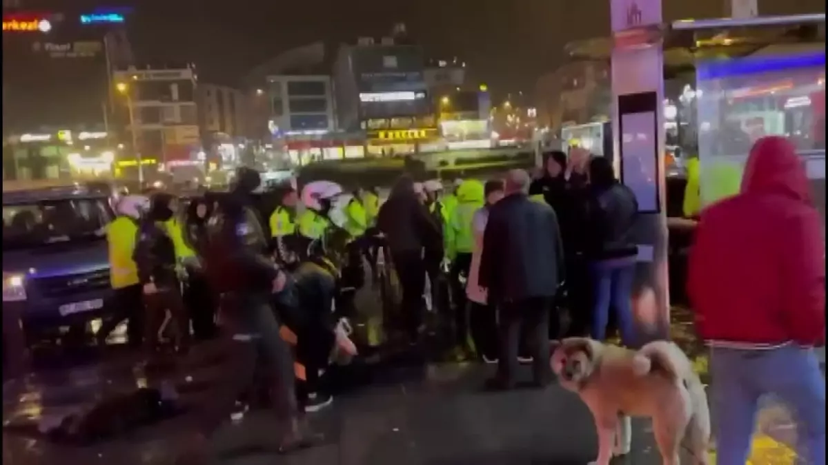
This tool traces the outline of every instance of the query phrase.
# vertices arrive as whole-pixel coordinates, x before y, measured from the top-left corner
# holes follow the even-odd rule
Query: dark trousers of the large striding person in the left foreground
[[[230,418],[236,400],[248,394],[258,373],[268,381],[279,426],[286,428],[289,420],[296,418],[293,357],[279,336],[279,321],[271,300],[272,296],[265,293],[232,293],[222,299],[222,321],[228,328],[219,334],[228,358],[219,379],[210,383],[210,398],[202,403],[204,408],[197,417],[207,435]]]

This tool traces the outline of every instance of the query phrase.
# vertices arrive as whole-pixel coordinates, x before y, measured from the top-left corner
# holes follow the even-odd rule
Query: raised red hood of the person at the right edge
[[[741,192],[783,194],[810,203],[808,175],[796,147],[784,137],[759,139],[744,166]]]

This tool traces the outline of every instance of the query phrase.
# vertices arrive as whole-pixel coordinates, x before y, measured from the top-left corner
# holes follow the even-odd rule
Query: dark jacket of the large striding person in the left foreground
[[[271,292],[278,267],[252,199],[231,193],[219,201],[208,223],[205,269],[219,292]]]

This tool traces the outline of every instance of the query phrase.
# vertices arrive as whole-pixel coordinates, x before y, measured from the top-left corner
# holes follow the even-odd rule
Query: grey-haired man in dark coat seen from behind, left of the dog
[[[479,285],[489,290],[489,303],[498,305],[498,375],[493,389],[515,386],[517,346],[524,326],[532,350],[537,386],[551,381],[549,327],[558,287],[564,278],[564,256],[558,220],[549,205],[529,199],[532,179],[525,170],[510,170],[506,197],[492,206],[483,238]]]

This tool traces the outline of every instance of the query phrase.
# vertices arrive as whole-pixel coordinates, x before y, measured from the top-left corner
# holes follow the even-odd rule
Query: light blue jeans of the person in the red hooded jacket
[[[809,465],[826,463],[826,381],[812,349],[710,350],[710,403],[719,465],[744,465],[759,398],[775,395],[797,420],[797,453]]]

